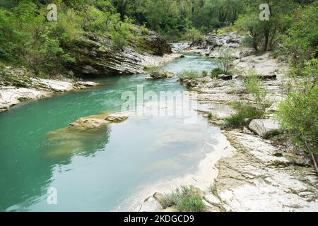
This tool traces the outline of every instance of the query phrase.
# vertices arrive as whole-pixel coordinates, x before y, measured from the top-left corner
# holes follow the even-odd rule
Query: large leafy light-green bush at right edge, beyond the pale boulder
[[[305,63],[296,85],[288,87],[284,102],[278,108],[278,120],[290,133],[294,145],[318,154],[318,60]]]

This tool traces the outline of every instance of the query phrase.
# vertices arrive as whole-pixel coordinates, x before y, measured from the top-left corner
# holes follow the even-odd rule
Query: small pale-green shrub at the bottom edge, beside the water
[[[182,186],[160,198],[163,208],[174,206],[180,212],[202,212],[205,209],[201,195],[193,186]]]

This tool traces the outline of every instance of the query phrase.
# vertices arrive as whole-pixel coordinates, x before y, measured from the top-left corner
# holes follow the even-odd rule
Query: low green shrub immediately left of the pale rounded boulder
[[[244,105],[240,102],[235,102],[232,107],[237,111],[236,114],[225,119],[223,129],[235,129],[248,126],[252,119],[260,119],[264,117],[264,112],[260,111],[252,105]]]

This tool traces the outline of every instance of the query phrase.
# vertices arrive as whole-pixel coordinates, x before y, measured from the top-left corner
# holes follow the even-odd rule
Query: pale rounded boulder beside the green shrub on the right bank
[[[272,119],[254,119],[250,122],[249,129],[266,138],[270,134],[277,132],[279,125]]]

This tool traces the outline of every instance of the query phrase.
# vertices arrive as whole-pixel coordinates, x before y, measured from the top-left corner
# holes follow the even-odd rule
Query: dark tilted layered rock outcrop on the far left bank
[[[142,35],[138,42],[131,42],[124,51],[115,51],[107,35],[86,33],[72,51],[76,61],[67,67],[82,76],[142,73],[151,57],[172,53],[170,44],[155,32]]]

